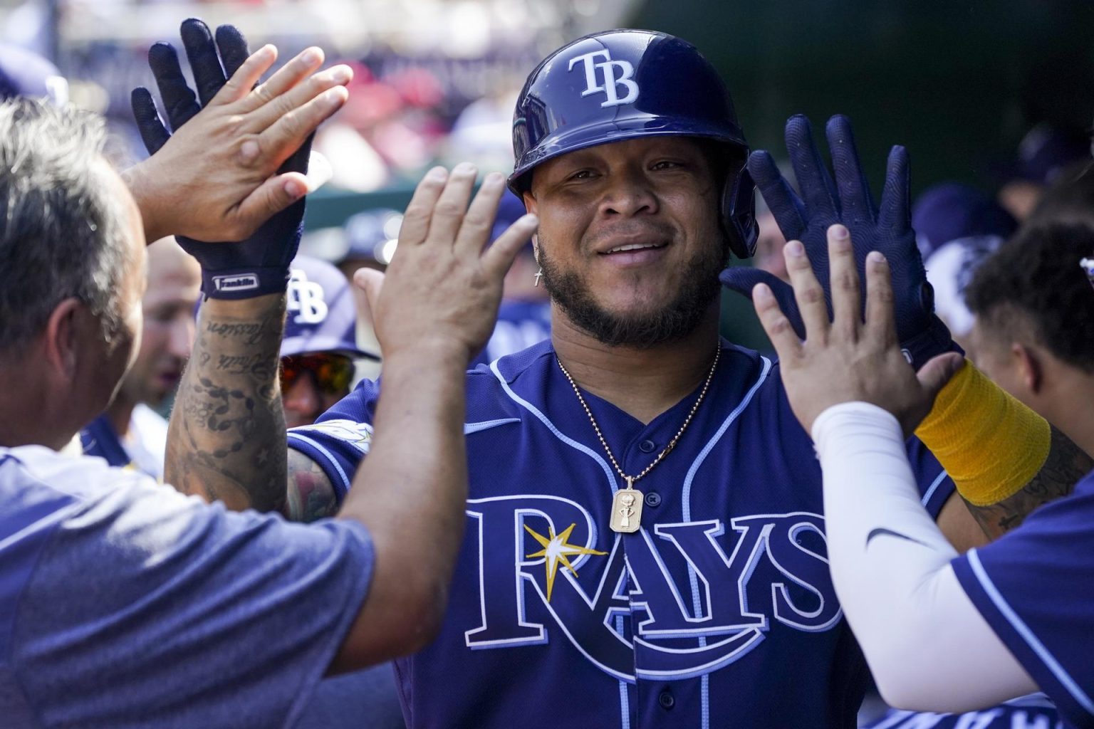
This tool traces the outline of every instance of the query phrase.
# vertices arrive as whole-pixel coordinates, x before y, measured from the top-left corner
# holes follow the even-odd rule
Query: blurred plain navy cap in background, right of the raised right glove
[[[911,207],[911,227],[923,258],[951,240],[971,236],[1009,238],[1017,221],[993,199],[968,185],[929,187]]]

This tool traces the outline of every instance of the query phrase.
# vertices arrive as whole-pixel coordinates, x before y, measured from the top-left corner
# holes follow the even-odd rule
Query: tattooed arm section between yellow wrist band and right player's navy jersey
[[[1054,427],[1048,458],[1029,483],[998,504],[974,506],[966,502],[966,505],[984,533],[994,539],[1022,524],[1041,504],[1070,494],[1091,468],[1094,460]]]

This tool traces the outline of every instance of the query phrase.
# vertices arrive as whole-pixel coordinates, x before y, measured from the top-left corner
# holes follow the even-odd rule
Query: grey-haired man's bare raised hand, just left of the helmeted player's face
[[[467,163],[451,173],[431,169],[407,207],[386,275],[361,269],[354,277],[385,362],[403,351],[441,349],[466,368],[493,331],[505,271],[537,221],[521,217],[486,247],[504,178],[487,175],[468,205],[475,175]]]

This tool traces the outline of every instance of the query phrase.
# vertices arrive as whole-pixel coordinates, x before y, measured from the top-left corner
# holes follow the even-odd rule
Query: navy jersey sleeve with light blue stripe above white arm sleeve
[[[1094,727],[1094,471],[1021,529],[953,561],[958,581],[1076,727]]]

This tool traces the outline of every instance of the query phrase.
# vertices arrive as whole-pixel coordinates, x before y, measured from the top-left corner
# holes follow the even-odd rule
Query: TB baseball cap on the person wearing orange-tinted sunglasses
[[[281,356],[338,352],[379,358],[358,346],[353,292],[341,271],[330,263],[296,256],[290,267],[286,298]]]

